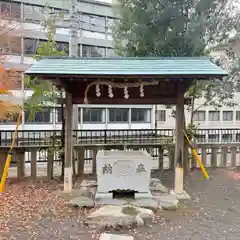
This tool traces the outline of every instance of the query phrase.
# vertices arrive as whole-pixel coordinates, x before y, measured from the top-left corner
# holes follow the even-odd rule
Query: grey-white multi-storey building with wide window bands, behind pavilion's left
[[[12,39],[2,54],[8,55],[8,65],[21,63],[24,67],[34,63],[41,42],[47,41],[42,27],[46,3],[49,12],[64,12],[62,25],[56,29],[58,50],[69,51],[69,9],[70,0],[15,0],[0,1],[1,19],[11,19],[11,24],[19,28],[19,34]],[[110,2],[110,1],[108,1]],[[113,57],[112,24],[115,14],[107,1],[81,0],[78,10],[78,55],[82,57]],[[23,36],[22,36],[23,35]],[[18,46],[18,47],[16,47]],[[16,95],[31,94],[29,90],[15,90]],[[150,129],[154,128],[152,105],[79,105],[78,129]],[[33,119],[24,113],[20,129],[52,130],[61,129],[61,109],[52,106],[37,112]],[[13,130],[16,119],[2,122],[0,130]]]

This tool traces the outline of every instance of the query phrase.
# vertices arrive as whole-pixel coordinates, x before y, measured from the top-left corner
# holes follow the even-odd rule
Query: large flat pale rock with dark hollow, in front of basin
[[[91,213],[84,221],[90,228],[118,229],[134,228],[154,218],[152,210],[132,205],[106,205]]]

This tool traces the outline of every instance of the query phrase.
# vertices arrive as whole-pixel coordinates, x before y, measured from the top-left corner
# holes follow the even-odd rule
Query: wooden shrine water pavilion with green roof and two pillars
[[[175,169],[184,161],[184,94],[194,81],[223,78],[227,72],[208,58],[44,58],[26,75],[51,80],[64,89],[64,191],[72,190],[73,104],[176,105]],[[98,159],[97,159],[98,161]],[[102,170],[97,169],[98,173]],[[183,192],[183,174],[175,174],[175,192]]]

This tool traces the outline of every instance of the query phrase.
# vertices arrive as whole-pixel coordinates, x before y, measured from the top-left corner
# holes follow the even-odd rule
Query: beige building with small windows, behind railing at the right
[[[222,106],[216,109],[212,106],[201,107],[204,100],[198,100],[196,107],[199,109],[193,115],[195,125],[198,125],[198,141],[201,142],[240,142],[240,93],[234,97],[235,107]],[[166,106],[153,107],[156,112],[157,128],[175,128],[173,108]],[[185,108],[186,122],[190,123],[191,113]]]

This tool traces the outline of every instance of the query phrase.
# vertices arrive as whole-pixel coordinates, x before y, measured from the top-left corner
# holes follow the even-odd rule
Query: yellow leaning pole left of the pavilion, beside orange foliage
[[[12,143],[11,143],[10,149],[8,151],[8,156],[7,156],[7,160],[6,160],[6,163],[5,163],[5,167],[4,167],[4,170],[3,170],[3,175],[2,175],[1,183],[0,183],[0,193],[4,192],[4,189],[5,189],[8,169],[9,169],[10,163],[12,161],[12,150],[13,150],[16,138],[17,138],[17,131],[18,131],[18,127],[21,123],[21,117],[22,117],[22,111],[19,112],[17,123],[16,123],[16,128],[15,128],[13,139],[12,139]]]

